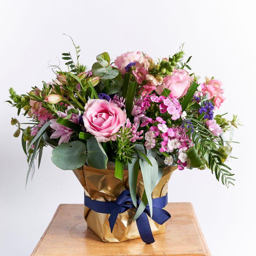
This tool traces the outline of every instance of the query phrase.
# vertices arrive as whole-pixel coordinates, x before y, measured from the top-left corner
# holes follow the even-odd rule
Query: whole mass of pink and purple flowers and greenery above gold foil
[[[147,204],[152,214],[151,193],[165,166],[209,168],[218,181],[234,185],[234,174],[225,162],[239,120],[235,115],[232,120],[214,115],[225,100],[222,83],[206,77],[200,84],[199,76],[189,74],[191,57],[183,61],[183,45],[158,61],[143,52],[126,52],[111,62],[103,52],[90,70],[80,64],[80,48],[74,46],[76,61],[70,52],[62,53],[67,71],[51,66],[52,82],[21,95],[10,88],[8,102],[18,115],[24,110],[31,120],[27,128],[21,128],[16,118],[11,121],[18,127],[14,137],[22,132],[27,180],[36,155],[39,166],[47,145],[54,148],[52,162],[63,170],[84,164],[106,169],[109,161],[115,163],[115,177],[122,180],[128,168],[132,202],[141,169],[144,204],[134,219]],[[227,131],[230,139],[224,137]]]

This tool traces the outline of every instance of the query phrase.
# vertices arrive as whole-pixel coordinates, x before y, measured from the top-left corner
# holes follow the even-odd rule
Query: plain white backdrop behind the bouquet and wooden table
[[[1,1],[0,102],[51,81],[47,62],[80,45],[88,67],[97,54],[126,51],[168,57],[185,42],[193,72],[224,83],[220,113],[239,115],[233,159],[236,186],[225,188],[209,170],[175,171],[170,202],[191,202],[212,255],[256,255],[255,244],[255,1]],[[63,63],[64,64],[64,63]],[[0,254],[30,255],[61,203],[83,203],[72,171],[43,153],[40,170],[25,189],[27,163],[21,139],[12,137],[15,108],[1,105]],[[25,121],[20,117],[20,121]],[[82,212],[81,212],[82,214]],[[254,244],[253,244],[254,242]]]

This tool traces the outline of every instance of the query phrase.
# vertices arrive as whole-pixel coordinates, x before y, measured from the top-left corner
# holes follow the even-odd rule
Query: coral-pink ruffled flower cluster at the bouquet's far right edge
[[[226,100],[223,97],[224,89],[221,88],[222,83],[217,79],[209,79],[206,77],[205,83],[201,84],[202,94],[206,95],[208,93],[208,100],[213,99],[214,106],[220,108],[221,103]]]

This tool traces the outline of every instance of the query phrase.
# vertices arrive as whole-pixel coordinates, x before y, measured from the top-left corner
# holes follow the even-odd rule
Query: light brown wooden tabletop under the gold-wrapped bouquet
[[[156,242],[141,239],[106,244],[87,228],[83,204],[60,204],[49,226],[31,255],[33,256],[209,256],[192,204],[169,203],[172,218],[166,233],[156,235]]]

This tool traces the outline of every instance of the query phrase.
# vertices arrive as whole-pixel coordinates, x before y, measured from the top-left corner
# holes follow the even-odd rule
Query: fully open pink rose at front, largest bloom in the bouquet
[[[84,127],[97,141],[116,140],[114,134],[126,123],[126,113],[107,100],[88,100],[84,107]]]

